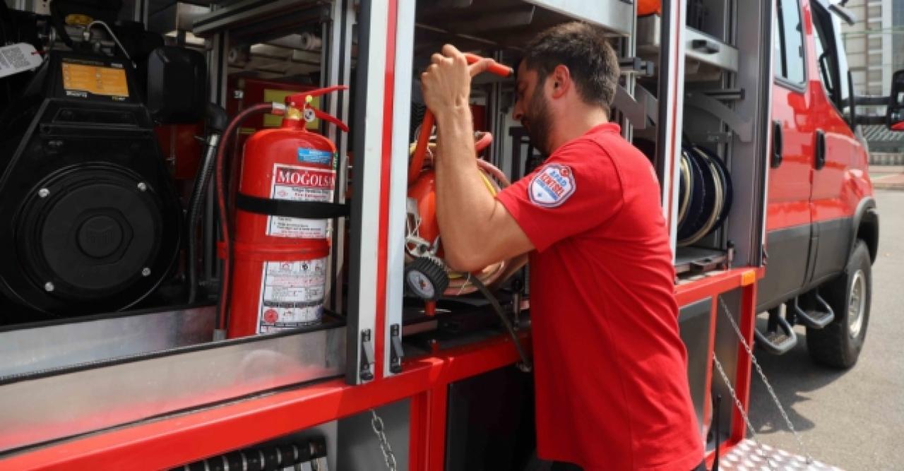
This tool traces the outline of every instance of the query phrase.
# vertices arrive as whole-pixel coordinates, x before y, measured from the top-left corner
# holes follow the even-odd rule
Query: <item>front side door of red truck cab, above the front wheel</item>
[[[851,184],[865,174],[865,149],[855,137],[848,98],[847,60],[841,24],[821,1],[813,4],[813,41],[809,44],[815,136],[811,218],[815,247],[811,248],[806,285],[818,286],[840,273],[847,261],[853,234],[852,216],[862,198]]]

